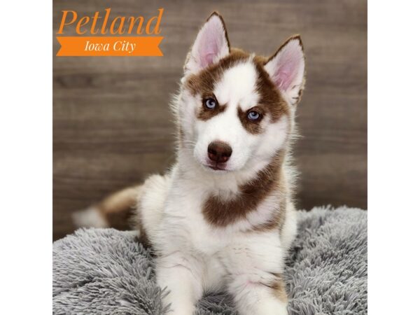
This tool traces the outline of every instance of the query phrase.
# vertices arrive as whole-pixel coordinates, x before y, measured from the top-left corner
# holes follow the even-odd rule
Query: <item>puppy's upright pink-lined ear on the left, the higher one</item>
[[[184,72],[197,73],[229,55],[229,52],[230,45],[225,22],[221,15],[214,12],[198,32],[193,47],[188,53]]]

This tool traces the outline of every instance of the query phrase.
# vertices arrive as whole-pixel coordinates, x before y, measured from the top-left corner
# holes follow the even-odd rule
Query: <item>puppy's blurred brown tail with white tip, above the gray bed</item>
[[[119,190],[99,204],[73,213],[73,223],[78,227],[116,228],[131,230],[135,227],[132,217],[141,194],[141,186]]]

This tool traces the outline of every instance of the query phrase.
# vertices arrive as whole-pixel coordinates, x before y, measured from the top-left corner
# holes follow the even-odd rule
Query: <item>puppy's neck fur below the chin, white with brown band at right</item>
[[[200,197],[201,211],[209,224],[218,228],[232,226],[267,199],[272,200],[270,205],[265,206],[269,207],[272,216],[264,226],[272,228],[279,223],[279,214],[286,204],[284,151],[279,151],[269,161],[261,161],[239,172],[211,172],[192,159],[190,151],[179,151],[176,179],[180,181],[180,186],[186,184],[185,187],[191,189],[190,193]]]

